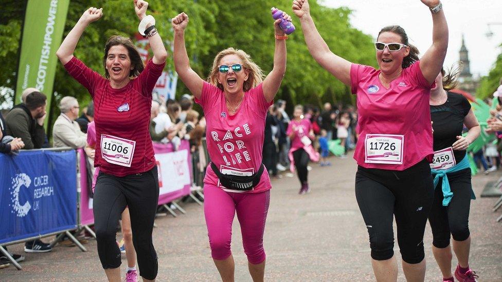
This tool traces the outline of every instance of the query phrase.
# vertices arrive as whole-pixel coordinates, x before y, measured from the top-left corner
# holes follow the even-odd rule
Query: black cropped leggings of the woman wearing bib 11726
[[[394,255],[393,217],[403,260],[418,264],[424,259],[425,223],[434,197],[427,160],[404,171],[358,166],[355,196],[368,228],[373,259],[386,260]]]

